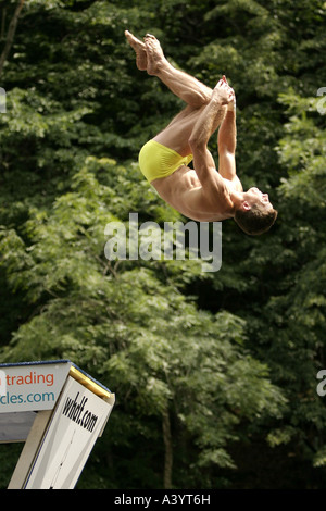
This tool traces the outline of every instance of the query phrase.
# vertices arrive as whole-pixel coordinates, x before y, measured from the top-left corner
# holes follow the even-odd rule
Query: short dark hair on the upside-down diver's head
[[[246,234],[259,236],[266,233],[277,217],[277,211],[269,209],[266,211],[263,204],[253,204],[250,210],[238,209],[235,221]]]

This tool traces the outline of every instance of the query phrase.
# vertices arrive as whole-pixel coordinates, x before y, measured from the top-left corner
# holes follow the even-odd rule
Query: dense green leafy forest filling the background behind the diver
[[[115,392],[78,488],[326,487],[325,8],[0,1],[0,361],[70,359]],[[186,221],[137,163],[183,104],[125,29],[235,88],[238,174],[278,220],[258,238],[224,222],[218,272],[104,257],[130,212]],[[21,449],[0,447],[1,487]]]

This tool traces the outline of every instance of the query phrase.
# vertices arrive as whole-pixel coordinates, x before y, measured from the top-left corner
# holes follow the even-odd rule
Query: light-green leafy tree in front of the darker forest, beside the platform
[[[118,190],[108,182],[120,177],[126,190],[124,174],[112,160],[88,158],[73,179],[72,191],[62,195],[49,214],[30,212],[24,233],[27,245],[12,229],[2,232],[8,281],[13,288],[24,287],[25,300],[35,310],[2,350],[2,360],[67,358],[87,367],[118,389],[113,436],[115,432],[118,438],[123,421],[130,428],[125,435],[135,444],[135,428],[145,436],[142,444],[148,443],[152,436],[140,433],[143,423],[162,422],[165,469],[161,470],[171,487],[180,470],[175,463],[173,476],[174,450],[178,438],[185,443],[181,438],[188,432],[187,444],[196,448],[198,461],[191,461],[193,474],[186,484],[198,484],[197,471],[205,468],[204,484],[211,485],[214,464],[233,466],[226,445],[237,439],[236,425],[255,415],[279,414],[284,400],[268,381],[267,367],[241,348],[239,320],[227,313],[214,319],[198,311],[170,277],[159,277],[162,264],[168,275],[168,261],[113,265],[103,258],[103,226],[125,209]],[[138,179],[134,188],[141,189],[145,185]],[[149,197],[147,211],[158,200],[153,194]],[[105,208],[109,201],[111,213]],[[133,201],[141,211],[143,194],[134,190],[128,204]],[[174,261],[174,265],[187,274],[191,262]],[[176,436],[172,423],[177,424]],[[161,434],[156,431],[155,436],[159,439]],[[118,450],[121,443],[114,444]]]

